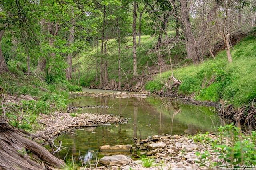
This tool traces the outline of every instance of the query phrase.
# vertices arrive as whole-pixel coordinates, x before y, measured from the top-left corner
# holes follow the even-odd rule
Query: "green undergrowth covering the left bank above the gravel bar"
[[[38,75],[26,76],[18,70],[0,74],[0,87],[3,94],[21,98],[20,95],[29,95],[34,100],[21,100],[19,103],[8,102],[14,108],[6,113],[9,122],[18,128],[26,131],[33,131],[40,128],[37,123],[39,114],[48,115],[51,112],[64,112],[67,109],[69,91],[81,91],[80,86],[72,85],[67,81],[55,84],[46,84]]]

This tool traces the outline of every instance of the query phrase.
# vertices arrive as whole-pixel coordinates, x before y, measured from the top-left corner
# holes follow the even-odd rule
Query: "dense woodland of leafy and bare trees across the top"
[[[170,52],[174,47],[170,43],[180,41],[193,64],[209,54],[215,57],[216,43],[222,43],[232,62],[232,38],[252,31],[255,6],[252,0],[1,0],[0,72],[9,72],[11,61],[26,61],[27,75],[40,70],[49,83],[71,80],[72,70],[79,71],[78,56],[91,49],[96,52],[84,62],[92,64],[98,88],[105,88],[112,63],[119,63],[118,82],[122,72],[138,77],[141,35],[155,37],[152,49],[157,51],[168,47]],[[176,36],[167,36],[170,31],[176,31]],[[117,42],[116,53],[112,39]],[[133,41],[132,54],[121,50],[127,41]],[[159,61],[162,57],[156,56]],[[133,68],[122,68],[126,58]]]

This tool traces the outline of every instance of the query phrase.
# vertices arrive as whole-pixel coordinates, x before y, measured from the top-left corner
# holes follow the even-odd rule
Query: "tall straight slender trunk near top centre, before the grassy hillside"
[[[132,24],[132,38],[133,38],[133,75],[138,76],[137,71],[137,54],[136,54],[136,18],[137,18],[137,2],[133,2],[133,24]]]

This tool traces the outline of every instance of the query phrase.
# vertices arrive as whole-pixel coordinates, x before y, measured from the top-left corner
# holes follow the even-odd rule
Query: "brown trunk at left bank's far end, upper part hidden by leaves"
[[[68,47],[71,51],[70,51],[70,53],[68,53],[68,58],[67,58],[68,68],[66,68],[66,80],[71,80],[72,79],[72,57],[73,57],[73,52],[72,52],[71,46],[74,43],[74,32],[75,32],[75,26],[74,26],[75,25],[75,20],[74,20],[73,17],[71,18],[71,24],[72,24],[72,27],[70,28],[70,34],[69,34],[69,37],[68,37]]]

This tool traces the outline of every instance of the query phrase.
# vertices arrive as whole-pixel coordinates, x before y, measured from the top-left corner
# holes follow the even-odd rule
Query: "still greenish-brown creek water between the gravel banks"
[[[128,118],[128,123],[76,129],[58,137],[66,150],[56,156],[73,157],[77,161],[93,162],[103,155],[102,145],[134,144],[134,139],[147,139],[158,134],[183,135],[215,132],[220,119],[214,108],[188,105],[172,98],[162,97],[89,97],[77,96],[70,106],[102,106],[80,109],[79,113],[114,114]],[[107,107],[105,107],[107,106]]]

